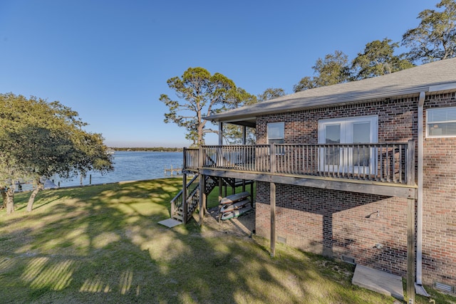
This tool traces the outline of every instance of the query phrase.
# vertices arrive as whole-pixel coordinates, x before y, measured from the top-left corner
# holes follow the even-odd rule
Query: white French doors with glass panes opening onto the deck
[[[375,174],[375,149],[361,144],[377,141],[377,116],[320,120],[318,143],[324,145],[319,152],[319,168],[326,172]]]

